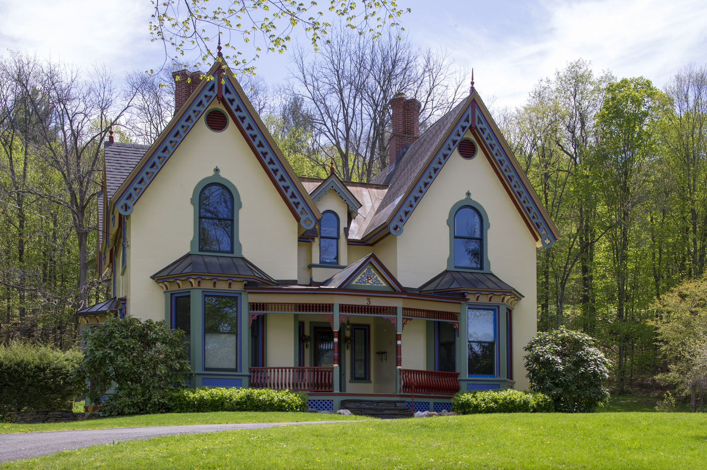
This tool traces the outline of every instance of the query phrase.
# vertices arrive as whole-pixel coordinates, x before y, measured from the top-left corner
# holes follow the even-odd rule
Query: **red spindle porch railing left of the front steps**
[[[334,368],[250,368],[250,387],[334,392]]]

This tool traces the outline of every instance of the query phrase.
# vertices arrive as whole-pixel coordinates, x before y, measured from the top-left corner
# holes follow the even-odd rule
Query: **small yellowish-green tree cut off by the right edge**
[[[707,384],[707,278],[686,281],[653,304],[660,351],[669,370],[660,375],[690,396],[696,411],[697,388]]]

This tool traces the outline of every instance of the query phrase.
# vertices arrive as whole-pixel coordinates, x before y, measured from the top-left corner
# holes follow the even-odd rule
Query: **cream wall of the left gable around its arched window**
[[[214,104],[211,107],[220,107]],[[150,276],[189,252],[196,184],[214,175],[238,189],[243,256],[276,279],[296,279],[298,223],[233,122],[212,132],[203,119],[177,148],[131,214],[132,315],[164,317],[162,288]]]

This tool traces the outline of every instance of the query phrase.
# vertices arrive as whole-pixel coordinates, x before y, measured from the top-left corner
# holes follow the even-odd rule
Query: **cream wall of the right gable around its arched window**
[[[396,237],[397,278],[403,286],[419,287],[447,269],[449,211],[464,199],[467,191],[489,216],[490,227],[485,242],[491,271],[525,295],[513,312],[514,379],[516,388],[525,389],[527,380],[522,367],[522,348],[537,332],[536,244],[483,154],[465,160],[455,151],[445,163],[405,224],[402,235]]]

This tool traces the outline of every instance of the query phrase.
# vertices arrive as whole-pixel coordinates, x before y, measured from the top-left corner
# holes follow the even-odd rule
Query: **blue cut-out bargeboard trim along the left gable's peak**
[[[238,81],[228,67],[219,62],[211,67],[207,75],[214,76],[214,80],[201,80],[185,105],[117,189],[110,200],[110,207],[117,207],[123,215],[132,213],[136,202],[167,163],[170,155],[184,141],[211,102],[217,99],[226,107],[231,120],[296,220],[305,229],[314,227],[322,214],[297,179]]]

